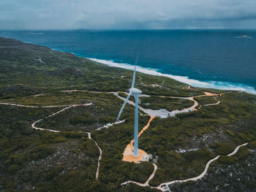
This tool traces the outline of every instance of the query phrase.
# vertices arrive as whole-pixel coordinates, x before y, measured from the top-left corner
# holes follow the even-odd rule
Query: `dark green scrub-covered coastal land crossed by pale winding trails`
[[[248,38],[248,37],[240,37]],[[0,37],[0,191],[254,191],[256,96]]]

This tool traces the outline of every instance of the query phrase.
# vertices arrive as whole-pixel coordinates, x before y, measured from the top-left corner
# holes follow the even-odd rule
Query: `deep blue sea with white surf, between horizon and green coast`
[[[256,94],[256,31],[0,31],[1,37],[44,45],[190,85]]]

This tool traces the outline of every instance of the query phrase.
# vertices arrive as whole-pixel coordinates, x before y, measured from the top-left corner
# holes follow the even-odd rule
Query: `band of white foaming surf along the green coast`
[[[76,55],[75,53],[72,53]],[[80,55],[77,55],[80,56]],[[83,56],[80,56],[83,57]],[[85,57],[86,58],[86,57]],[[97,59],[97,58],[87,58],[91,61],[95,61],[99,64],[105,64],[107,66],[114,66],[118,67],[121,69],[129,69],[129,70],[134,70],[134,65],[131,64],[124,64],[124,63],[116,63],[114,61],[108,61],[108,60],[103,60],[103,59]],[[256,90],[252,86],[245,85],[244,83],[235,83],[235,82],[222,82],[222,81],[200,81],[200,80],[193,80],[189,79],[187,76],[178,76],[178,75],[173,75],[173,74],[164,74],[161,72],[157,72],[157,69],[149,69],[145,68],[143,66],[137,66],[137,72],[141,72],[144,74],[151,74],[155,76],[161,76],[161,77],[168,77],[173,80],[177,80],[179,82],[184,82],[188,85],[191,85],[193,87],[197,88],[214,88],[214,89],[219,89],[219,90],[230,90],[230,91],[244,91],[246,93],[251,93],[256,95]]]

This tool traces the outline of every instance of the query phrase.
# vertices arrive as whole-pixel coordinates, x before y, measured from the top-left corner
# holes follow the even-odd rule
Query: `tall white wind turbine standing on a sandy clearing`
[[[124,104],[121,107],[120,112],[118,113],[118,117],[116,118],[116,121],[119,120],[121,113],[124,110],[124,106],[127,104],[127,101],[129,99],[129,96],[133,95],[135,97],[135,142],[134,142],[134,150],[133,150],[133,156],[138,157],[138,103],[140,102],[140,99],[138,97],[138,94],[142,93],[138,88],[135,88],[135,74],[136,74],[136,66],[137,66],[138,58],[136,58],[135,62],[135,70],[133,72],[132,77],[132,87],[129,88],[129,94],[127,96],[127,99],[125,99]]]

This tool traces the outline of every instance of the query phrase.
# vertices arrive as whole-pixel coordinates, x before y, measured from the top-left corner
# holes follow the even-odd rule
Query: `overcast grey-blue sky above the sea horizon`
[[[0,29],[256,28],[256,0],[1,0]]]

